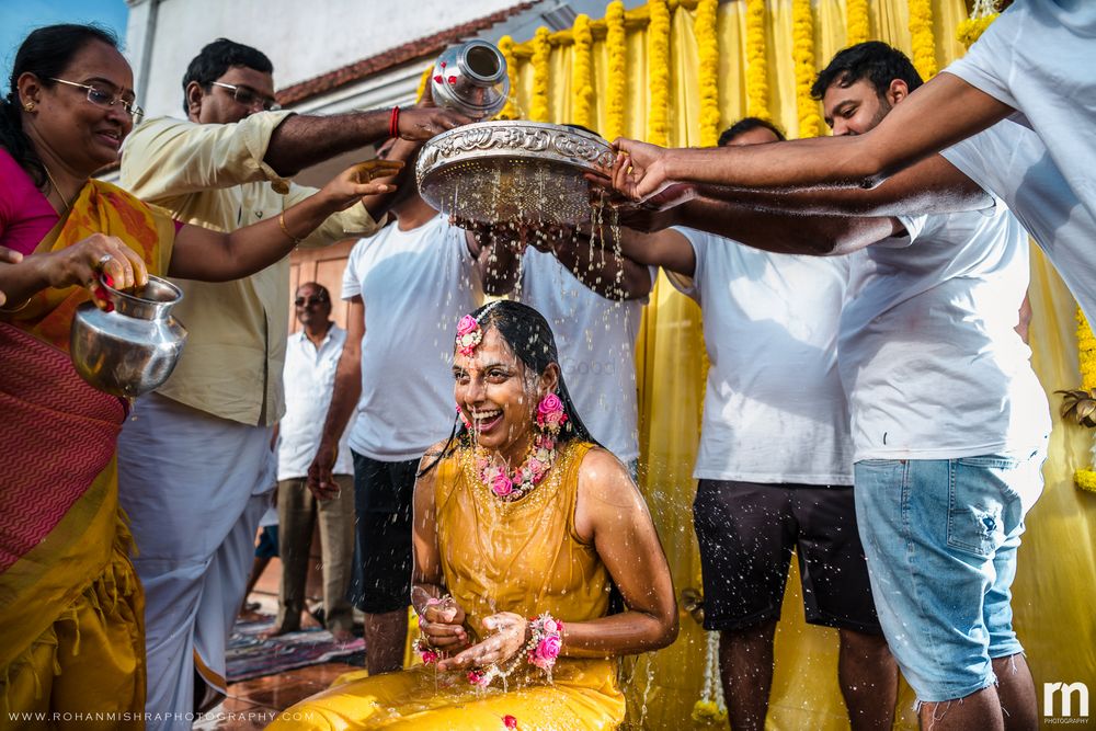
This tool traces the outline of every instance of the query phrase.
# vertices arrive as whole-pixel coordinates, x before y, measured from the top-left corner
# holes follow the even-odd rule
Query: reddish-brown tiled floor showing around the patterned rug
[[[273,561],[249,597],[262,605],[262,612],[277,609],[277,576],[281,566]],[[319,693],[332,681],[351,671],[362,670],[341,662],[301,667],[278,675],[258,677],[228,686],[228,698],[195,722],[201,731],[263,729],[277,713],[293,704]]]

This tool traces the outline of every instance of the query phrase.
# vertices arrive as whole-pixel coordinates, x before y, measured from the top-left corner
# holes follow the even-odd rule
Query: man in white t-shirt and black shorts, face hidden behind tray
[[[413,167],[413,162],[409,163]],[[352,413],[357,516],[351,599],[365,613],[370,674],[403,665],[411,601],[411,503],[419,459],[454,426],[453,329],[482,301],[473,237],[401,186],[395,220],[354,247],[343,275],[346,345],[309,488],[331,470]]]

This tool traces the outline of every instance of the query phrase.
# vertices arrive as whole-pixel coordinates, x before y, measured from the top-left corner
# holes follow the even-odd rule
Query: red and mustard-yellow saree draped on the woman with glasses
[[[89,182],[35,253],[117,236],[162,273],[174,227]],[[46,289],[0,313],[0,728],[141,727],[144,597],[118,509],[126,403],[85,384],[69,327],[89,297]],[[35,713],[45,713],[36,716]]]

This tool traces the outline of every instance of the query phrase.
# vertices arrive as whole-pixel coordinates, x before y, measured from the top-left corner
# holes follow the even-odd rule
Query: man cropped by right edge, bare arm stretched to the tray
[[[712,195],[735,201],[735,187],[871,186],[888,175],[891,212],[962,210],[950,197],[954,173],[933,152],[959,140],[969,152],[959,165],[1006,201],[1065,278],[1089,318],[1096,318],[1096,3],[1091,0],[1014,2],[961,58],[926,83],[870,134],[797,140],[780,149],[666,150],[618,140],[632,171],[617,187],[635,199],[672,183],[728,186]],[[981,130],[1008,117],[1018,129],[1000,130],[1021,153],[996,157],[1000,147]],[[1042,149],[1038,149],[1041,147]],[[621,160],[621,165],[624,161]],[[886,186],[886,185],[884,185]],[[675,193],[681,199],[681,191]],[[1065,199],[1063,199],[1063,197]],[[1050,204],[1060,226],[1040,210]],[[958,206],[958,207],[957,207]],[[837,206],[840,207],[840,206]],[[1074,208],[1083,208],[1083,212]],[[1076,266],[1082,264],[1082,269]]]

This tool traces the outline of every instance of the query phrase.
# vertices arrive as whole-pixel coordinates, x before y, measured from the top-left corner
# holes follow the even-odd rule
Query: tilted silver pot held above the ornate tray
[[[506,105],[506,59],[487,41],[449,46],[434,62],[430,79],[434,103],[473,119],[486,119]]]

